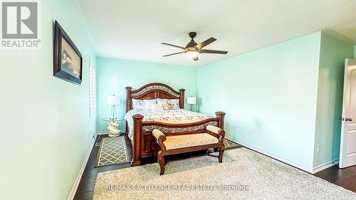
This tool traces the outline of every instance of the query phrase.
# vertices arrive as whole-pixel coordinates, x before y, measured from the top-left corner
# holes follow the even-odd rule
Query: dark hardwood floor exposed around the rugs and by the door
[[[100,135],[96,140],[97,142],[101,142],[103,137],[108,137],[108,135]],[[129,159],[131,160],[132,155],[132,145],[130,139],[125,135],[125,142],[127,145],[127,151],[129,154]],[[95,187],[95,180],[100,172],[108,172],[115,169],[123,169],[127,167],[131,167],[130,163],[125,164],[116,164],[111,166],[105,167],[97,167],[95,166],[96,156],[99,151],[99,146],[95,145],[93,147],[92,152],[90,153],[90,157],[88,159],[88,163],[85,167],[83,177],[80,179],[80,183],[78,186],[78,190],[75,193],[75,200],[91,200],[93,199],[94,187]],[[242,147],[242,146],[240,146]],[[179,155],[172,155],[171,157],[167,157],[169,160],[175,159],[186,159],[187,157],[197,157],[204,155],[205,152],[193,152],[187,154],[179,154]],[[155,162],[154,160],[147,160],[147,163]],[[345,189],[349,189],[351,191],[356,192],[356,166],[355,167],[348,167],[345,169],[339,169],[338,166],[330,167],[325,169],[321,172],[314,174],[316,177],[320,177],[321,179],[325,179],[330,181],[333,184],[337,184],[339,186],[344,187]]]

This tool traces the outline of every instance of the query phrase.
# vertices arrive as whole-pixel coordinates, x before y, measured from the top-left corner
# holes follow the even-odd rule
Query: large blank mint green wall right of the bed
[[[321,33],[197,70],[199,110],[226,112],[226,133],[242,144],[313,167]]]

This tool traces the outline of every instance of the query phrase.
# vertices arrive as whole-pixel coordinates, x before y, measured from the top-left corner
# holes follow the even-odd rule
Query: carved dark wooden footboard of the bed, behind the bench
[[[225,112],[216,112],[216,117],[189,124],[166,124],[161,122],[142,122],[143,116],[134,115],[134,134],[132,144],[132,166],[142,164],[142,158],[153,157],[152,144],[155,138],[152,130],[158,129],[164,135],[188,135],[205,132],[207,125],[218,126],[224,129]]]

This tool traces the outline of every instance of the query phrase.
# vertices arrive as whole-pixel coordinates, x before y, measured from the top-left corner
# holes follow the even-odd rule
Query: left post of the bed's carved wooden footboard
[[[133,149],[131,166],[141,165],[141,131],[142,131],[142,119],[143,116],[136,114],[133,117],[134,130],[133,130]]]

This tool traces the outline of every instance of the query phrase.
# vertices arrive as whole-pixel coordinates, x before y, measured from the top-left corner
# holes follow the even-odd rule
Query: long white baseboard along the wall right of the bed
[[[278,156],[278,155],[276,155],[276,154],[272,154],[272,153],[270,153],[270,152],[266,152],[266,151],[263,150],[263,149],[260,149],[260,148],[258,148],[258,147],[254,147],[253,145],[247,144],[246,142],[241,142],[241,141],[236,140],[236,139],[234,139],[234,138],[232,138],[232,137],[229,137],[229,136],[225,136],[225,137],[226,137],[227,140],[231,140],[231,141],[233,141],[233,142],[236,142],[236,143],[238,143],[238,144],[241,144],[242,146],[247,147],[248,149],[252,149],[253,151],[259,152],[259,153],[261,153],[261,154],[265,154],[265,155],[268,156],[268,157],[271,157],[271,158],[273,158],[273,159],[277,159],[277,160],[279,160],[279,161],[281,161],[281,162],[284,162],[284,163],[289,164],[289,165],[291,165],[291,166],[293,166],[293,167],[296,167],[296,168],[298,168],[298,169],[301,169],[301,170],[303,170],[303,171],[305,171],[305,172],[308,172],[308,173],[310,173],[310,174],[313,174],[313,169],[310,168],[310,167],[306,167],[306,166],[303,165],[303,164],[299,164],[299,163],[297,163],[297,162],[293,162],[293,161],[291,161],[290,159],[285,159],[285,158],[283,158],[283,157],[280,157],[280,156]]]

